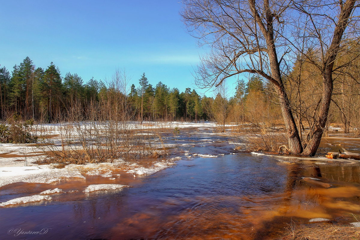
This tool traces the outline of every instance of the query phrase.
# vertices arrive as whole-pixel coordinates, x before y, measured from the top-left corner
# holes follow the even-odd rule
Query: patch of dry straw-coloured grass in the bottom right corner
[[[305,224],[289,229],[284,240],[347,240],[360,239],[360,228],[328,223]]]

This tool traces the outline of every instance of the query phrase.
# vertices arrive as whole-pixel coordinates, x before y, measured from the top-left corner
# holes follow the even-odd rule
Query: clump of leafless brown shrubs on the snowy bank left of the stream
[[[137,130],[134,111],[129,106],[125,72],[116,71],[107,92],[99,102],[82,106],[74,102],[63,123],[57,124],[58,139],[44,138],[45,159],[60,165],[112,161],[128,156],[162,156],[161,136],[156,132]],[[160,141],[161,142],[161,141]]]

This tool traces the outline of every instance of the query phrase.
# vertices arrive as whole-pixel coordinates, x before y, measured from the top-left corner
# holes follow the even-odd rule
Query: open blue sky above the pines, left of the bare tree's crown
[[[183,27],[176,0],[0,0],[0,6],[0,65],[10,72],[29,56],[36,67],[54,62],[62,76],[77,73],[84,82],[122,68],[135,85],[145,72],[150,84],[196,89],[192,72],[204,49]]]

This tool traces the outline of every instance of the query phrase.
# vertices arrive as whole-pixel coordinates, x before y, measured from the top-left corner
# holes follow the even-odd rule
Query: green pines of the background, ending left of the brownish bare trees
[[[0,68],[1,119],[17,114],[23,120],[61,121],[75,103],[80,102],[85,108],[90,102],[105,100],[111,91],[126,95],[134,120],[200,121],[210,116],[202,102],[212,102],[213,98],[201,97],[190,88],[180,93],[161,82],[153,86],[145,73],[138,86],[131,85],[129,93],[116,88],[111,81],[94,78],[84,83],[79,75],[69,72],[62,77],[53,62],[46,69],[36,68],[26,57],[11,73],[6,67]]]

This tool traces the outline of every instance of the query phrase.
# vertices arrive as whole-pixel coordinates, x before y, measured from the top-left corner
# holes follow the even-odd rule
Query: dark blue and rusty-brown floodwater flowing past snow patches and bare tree
[[[0,238],[278,239],[292,222],[329,218],[345,224],[360,219],[359,164],[251,155],[233,150],[226,136],[205,132],[165,137],[165,142],[176,144],[173,156],[182,159],[153,175],[134,178],[118,172],[121,176],[115,181],[92,176],[0,188],[0,202],[55,187],[79,190],[53,194],[52,201],[0,208]],[[354,140],[349,141],[356,148]],[[225,155],[186,158],[181,150]],[[334,187],[324,188],[303,177]],[[100,183],[132,187],[82,192]],[[48,230],[15,236],[8,234],[12,228]]]

